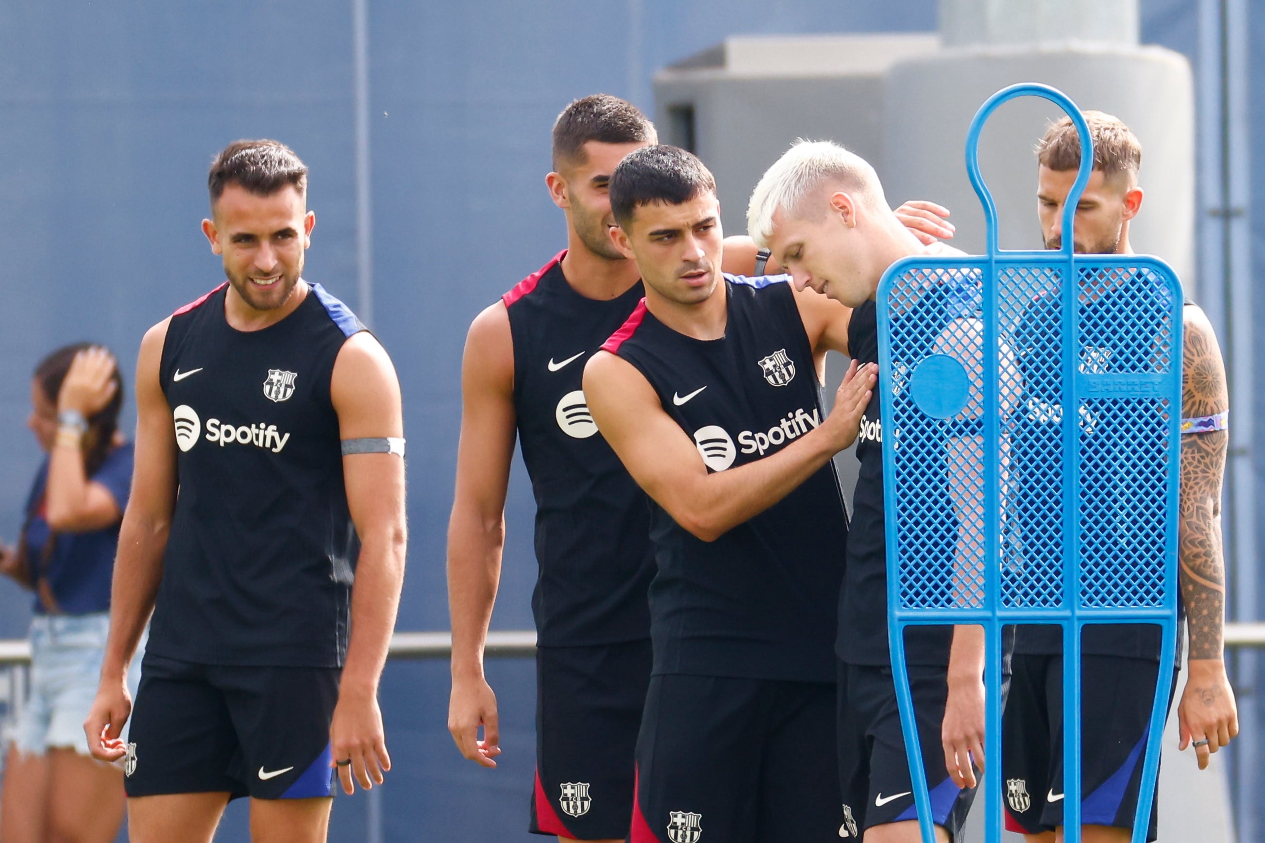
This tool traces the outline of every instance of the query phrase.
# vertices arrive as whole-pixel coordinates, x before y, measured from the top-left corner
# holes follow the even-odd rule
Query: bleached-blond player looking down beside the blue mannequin
[[[925,246],[906,230],[883,197],[874,169],[829,142],[793,147],[764,174],[748,212],[755,241],[794,278],[848,306],[850,351],[877,360],[874,296],[889,265],[901,258],[946,252]],[[947,326],[978,311],[978,284],[932,284],[913,306],[932,308]],[[946,349],[953,354],[954,349]],[[839,766],[845,805],[842,838],[873,843],[921,840],[912,781],[896,705],[887,648],[887,559],[883,537],[882,420],[879,383],[863,417],[861,461],[848,542],[848,579],[840,594]],[[969,447],[972,437],[953,442]],[[960,504],[960,489],[944,494]],[[956,537],[956,525],[931,525]],[[951,547],[954,541],[946,541]],[[946,560],[958,564],[959,560]],[[936,834],[947,840],[961,830],[974,798],[968,751],[982,758],[983,634],[978,627],[913,631],[906,638]],[[941,744],[941,737],[945,738]]]

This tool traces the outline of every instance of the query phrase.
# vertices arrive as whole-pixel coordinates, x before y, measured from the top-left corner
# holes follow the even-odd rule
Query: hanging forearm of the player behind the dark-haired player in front
[[[454,511],[448,531],[448,610],[453,624],[454,675],[483,672],[483,643],[492,622],[505,546],[502,518],[482,525],[472,521],[479,519]]]

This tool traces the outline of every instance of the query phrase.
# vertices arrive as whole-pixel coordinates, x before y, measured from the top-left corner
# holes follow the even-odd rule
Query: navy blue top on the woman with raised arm
[[[132,492],[132,466],[134,450],[126,442],[106,454],[90,480],[100,483],[114,497],[121,513],[128,508]],[[58,612],[89,614],[110,610],[110,580],[114,575],[114,556],[119,550],[119,523],[89,532],[59,532],[52,554],[44,559],[51,531],[44,518],[44,489],[48,483],[48,459],[39,466],[35,482],[27,498],[25,512],[32,513],[27,523],[27,565],[30,581],[39,578],[48,581],[57,600]],[[39,597],[35,614],[47,614]]]

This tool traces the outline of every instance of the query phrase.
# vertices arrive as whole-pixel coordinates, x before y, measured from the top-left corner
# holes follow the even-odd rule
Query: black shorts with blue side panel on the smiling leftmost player
[[[132,710],[128,796],[333,796],[338,667],[237,667],[147,655]]]

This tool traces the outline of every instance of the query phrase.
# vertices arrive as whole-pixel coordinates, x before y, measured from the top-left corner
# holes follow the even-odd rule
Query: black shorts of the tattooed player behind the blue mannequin
[[[1080,661],[1080,822],[1133,828],[1159,662],[1121,656]],[[1040,834],[1063,825],[1063,656],[1015,655],[1002,718],[1002,777],[1008,829]],[[1146,839],[1155,835],[1152,801]]]

